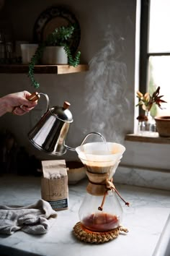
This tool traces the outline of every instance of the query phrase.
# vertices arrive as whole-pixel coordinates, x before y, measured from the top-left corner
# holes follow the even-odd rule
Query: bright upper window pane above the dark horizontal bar
[[[151,0],[149,53],[170,52],[170,0]]]

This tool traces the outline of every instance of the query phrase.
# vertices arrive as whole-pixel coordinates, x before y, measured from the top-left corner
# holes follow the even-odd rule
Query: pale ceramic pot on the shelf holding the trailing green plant
[[[68,64],[63,46],[46,46],[42,54],[42,64]]]

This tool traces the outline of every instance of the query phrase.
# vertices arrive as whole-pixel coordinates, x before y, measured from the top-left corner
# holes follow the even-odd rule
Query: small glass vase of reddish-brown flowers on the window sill
[[[166,101],[161,98],[163,95],[159,95],[160,87],[156,89],[155,92],[151,95],[150,93],[140,93],[137,92],[137,97],[139,102],[136,106],[141,106],[143,111],[145,111],[144,115],[140,115],[137,117],[138,119],[138,133],[140,135],[154,135],[153,132],[156,132],[156,121],[154,116],[151,116],[151,108],[153,105],[157,105],[161,108],[161,103],[166,103]]]

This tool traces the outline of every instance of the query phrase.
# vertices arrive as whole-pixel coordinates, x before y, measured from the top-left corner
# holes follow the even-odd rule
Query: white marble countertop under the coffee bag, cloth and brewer
[[[87,244],[73,235],[79,221],[79,207],[86,194],[87,180],[69,185],[68,210],[58,211],[47,234],[33,236],[17,231],[11,236],[0,234],[1,255],[45,256],[151,256],[158,244],[170,213],[170,191],[116,184],[128,208],[122,202],[122,226],[128,234],[104,244]],[[1,205],[30,205],[40,195],[40,177],[0,176]]]

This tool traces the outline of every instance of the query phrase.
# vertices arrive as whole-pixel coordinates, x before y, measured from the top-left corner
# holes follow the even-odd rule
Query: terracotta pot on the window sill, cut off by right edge
[[[156,116],[156,128],[160,137],[170,137],[170,116]]]

